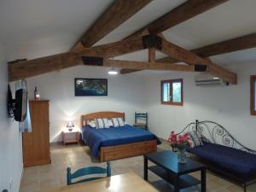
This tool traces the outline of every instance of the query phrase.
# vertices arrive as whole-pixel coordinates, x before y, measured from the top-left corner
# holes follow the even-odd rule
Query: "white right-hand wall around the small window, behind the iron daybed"
[[[146,78],[149,127],[159,137],[181,131],[190,122],[212,120],[224,125],[241,143],[256,149],[256,117],[250,115],[249,75],[256,65],[232,66],[238,84],[228,87],[196,87],[194,73],[166,73]],[[160,80],[183,79],[183,107],[160,104]]]

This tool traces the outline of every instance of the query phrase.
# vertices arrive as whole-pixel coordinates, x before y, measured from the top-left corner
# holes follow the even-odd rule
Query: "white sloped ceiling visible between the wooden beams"
[[[9,60],[69,50],[113,0],[0,0],[0,43]],[[184,3],[154,0],[97,44],[125,38]],[[230,0],[163,32],[166,39],[195,49],[256,32],[256,0]],[[147,51],[119,59],[146,61]],[[164,55],[157,54],[157,57]],[[219,64],[256,62],[256,49],[212,57]]]

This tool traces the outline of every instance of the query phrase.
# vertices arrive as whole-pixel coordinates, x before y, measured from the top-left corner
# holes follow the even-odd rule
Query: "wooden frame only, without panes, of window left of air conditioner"
[[[181,83],[181,102],[164,102],[163,101],[163,85],[166,83],[170,83],[170,96],[172,93],[172,84],[173,83]],[[183,106],[183,79],[167,79],[167,80],[161,80],[160,82],[160,86],[161,86],[161,104],[163,105],[175,105],[175,106]],[[173,93],[172,93],[173,94]],[[172,95],[173,98],[173,95]],[[256,115],[256,114],[255,114]]]

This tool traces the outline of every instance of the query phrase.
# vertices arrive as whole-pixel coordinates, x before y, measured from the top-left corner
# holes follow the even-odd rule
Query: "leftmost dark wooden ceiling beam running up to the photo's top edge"
[[[91,47],[100,39],[128,20],[137,11],[143,9],[152,0],[115,0],[110,7],[90,26],[89,30],[73,46],[72,51],[80,51],[84,47]]]

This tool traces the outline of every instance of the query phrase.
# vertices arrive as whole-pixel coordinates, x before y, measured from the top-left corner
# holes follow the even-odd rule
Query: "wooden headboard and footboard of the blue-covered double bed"
[[[81,115],[81,126],[87,125],[88,120],[114,117],[120,117],[125,120],[125,113],[104,111]],[[152,153],[155,152],[156,149],[157,141],[154,139],[146,142],[101,147],[99,157],[101,162],[107,162],[110,160],[120,160],[128,157]]]

